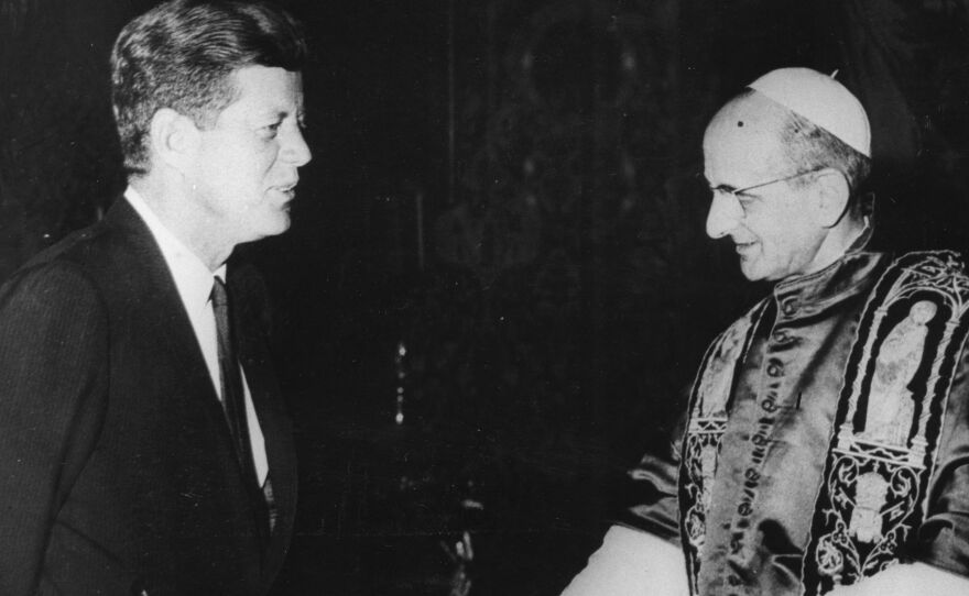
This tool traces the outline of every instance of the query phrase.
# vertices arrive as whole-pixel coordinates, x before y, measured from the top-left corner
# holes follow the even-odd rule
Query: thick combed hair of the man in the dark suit
[[[111,52],[111,102],[124,168],[145,174],[151,119],[162,108],[215,123],[246,66],[302,70],[307,59],[300,24],[263,2],[173,0],[134,19]]]

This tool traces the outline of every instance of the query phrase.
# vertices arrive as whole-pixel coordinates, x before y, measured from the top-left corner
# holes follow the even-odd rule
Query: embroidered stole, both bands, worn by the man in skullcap
[[[679,472],[690,588],[737,367],[767,301],[721,334],[690,396]],[[910,253],[869,296],[848,356],[804,553],[807,596],[893,564],[922,525],[946,401],[969,330],[969,277],[955,253]]]

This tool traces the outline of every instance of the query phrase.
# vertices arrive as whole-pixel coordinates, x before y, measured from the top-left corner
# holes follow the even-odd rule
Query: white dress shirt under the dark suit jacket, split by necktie
[[[148,229],[154,236],[168,271],[175,279],[175,287],[178,289],[178,296],[182,298],[182,306],[188,313],[188,320],[192,322],[192,329],[195,331],[195,338],[202,347],[202,355],[205,357],[205,364],[208,367],[208,374],[211,377],[213,386],[219,400],[222,399],[221,383],[219,382],[219,355],[218,339],[216,336],[216,319],[213,312],[211,288],[213,276],[226,279],[226,265],[210,272],[198,256],[185,247],[175,235],[165,228],[164,223],[151,210],[151,207],[144,202],[144,199],[132,187],[124,190],[124,198],[131,203],[131,207],[141,216]],[[252,459],[255,463],[255,476],[259,478],[259,485],[265,483],[269,475],[269,462],[265,457],[265,439],[262,435],[262,429],[259,426],[259,418],[255,416],[255,408],[252,406],[252,395],[249,393],[249,383],[246,380],[246,372],[239,366],[242,373],[242,388],[246,394],[246,418],[249,421],[249,439],[252,442]]]

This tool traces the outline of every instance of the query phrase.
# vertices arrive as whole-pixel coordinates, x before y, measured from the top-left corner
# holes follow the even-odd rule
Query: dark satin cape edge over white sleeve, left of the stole
[[[685,421],[681,421],[665,451],[647,453],[629,471],[614,521],[679,543],[677,478]]]

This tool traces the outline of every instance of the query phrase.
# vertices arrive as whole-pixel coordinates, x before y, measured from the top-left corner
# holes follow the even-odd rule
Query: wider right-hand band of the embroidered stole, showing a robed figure
[[[969,277],[949,253],[906,255],[879,282],[848,361],[804,561],[805,594],[895,563],[921,526],[969,328],[967,300]]]

